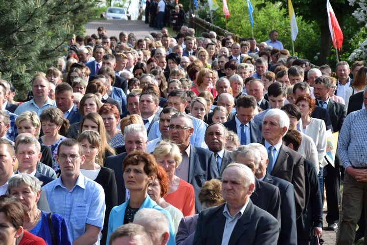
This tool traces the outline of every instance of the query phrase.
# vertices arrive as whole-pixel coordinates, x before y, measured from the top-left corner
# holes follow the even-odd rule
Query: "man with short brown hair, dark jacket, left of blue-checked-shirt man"
[[[51,182],[53,178],[45,176],[37,171],[37,162],[41,159],[40,143],[35,137],[24,136],[17,140],[15,156],[18,159],[18,173],[34,175],[41,180],[42,186]]]

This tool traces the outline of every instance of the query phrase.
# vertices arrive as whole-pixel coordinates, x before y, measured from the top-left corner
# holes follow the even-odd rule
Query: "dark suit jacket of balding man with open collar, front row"
[[[199,214],[193,245],[221,245],[226,217],[225,203],[203,210]],[[233,228],[229,245],[276,245],[279,223],[268,212],[249,203]]]

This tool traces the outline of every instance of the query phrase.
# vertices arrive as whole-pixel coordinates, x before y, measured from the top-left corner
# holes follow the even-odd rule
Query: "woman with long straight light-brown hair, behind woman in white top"
[[[103,164],[108,156],[115,155],[115,150],[107,143],[106,130],[103,124],[102,117],[96,112],[90,112],[83,116],[82,121],[80,122],[79,134],[84,131],[92,130],[97,131],[99,135],[101,135],[101,152]]]

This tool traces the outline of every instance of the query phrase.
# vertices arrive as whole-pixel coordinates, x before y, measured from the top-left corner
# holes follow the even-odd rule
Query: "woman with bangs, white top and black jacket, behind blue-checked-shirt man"
[[[102,138],[101,135],[92,130],[79,134],[78,141],[82,144],[85,161],[80,165],[80,172],[100,184],[105,192],[106,213],[104,223],[108,224],[113,207],[117,206],[117,185],[115,172],[103,167]],[[102,244],[107,240],[107,227],[102,230]]]

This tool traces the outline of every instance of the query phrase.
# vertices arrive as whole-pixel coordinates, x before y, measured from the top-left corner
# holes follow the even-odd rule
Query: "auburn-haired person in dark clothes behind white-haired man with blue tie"
[[[284,144],[298,151],[302,137],[297,130],[289,130],[283,137]],[[303,159],[305,176],[306,205],[302,215],[297,219],[298,245],[308,245],[313,236],[322,235],[322,202],[319,177],[313,163]]]

